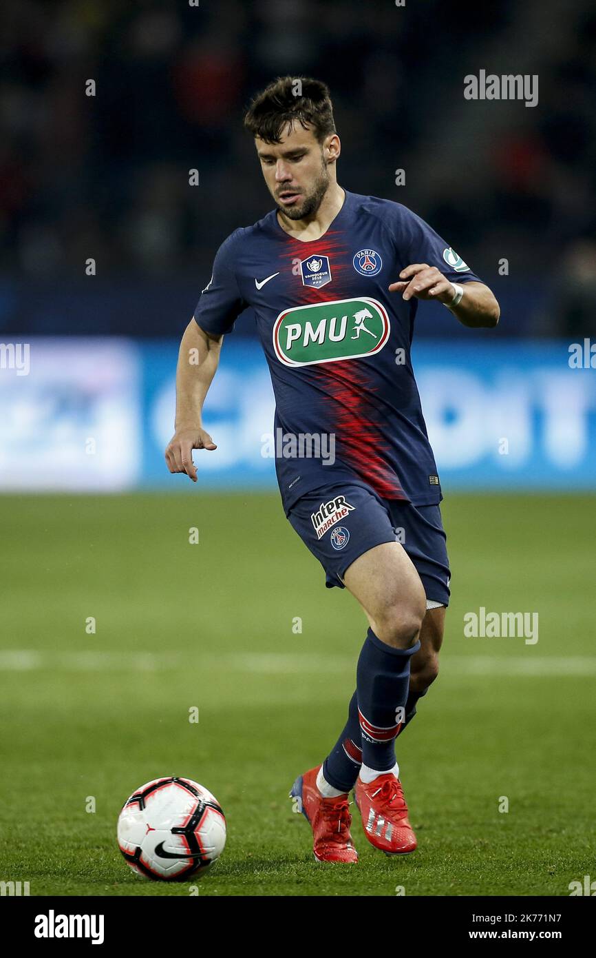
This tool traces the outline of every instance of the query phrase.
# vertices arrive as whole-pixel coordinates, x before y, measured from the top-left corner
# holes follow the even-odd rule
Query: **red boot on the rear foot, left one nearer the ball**
[[[344,861],[354,863],[358,855],[352,836],[347,794],[337,798],[323,798],[317,787],[320,765],[299,775],[290,791],[290,798],[298,799],[302,812],[313,830],[313,851],[317,861]]]

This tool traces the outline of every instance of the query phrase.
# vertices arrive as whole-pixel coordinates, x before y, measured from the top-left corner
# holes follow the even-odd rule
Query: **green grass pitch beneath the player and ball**
[[[419,848],[376,852],[352,807],[361,860],[342,867],[315,862],[287,794],[342,727],[366,625],[278,497],[0,498],[0,879],[188,895],[192,879],[133,875],[115,842],[127,795],[170,774],[228,819],[200,896],[562,896],[596,878],[594,513],[587,495],[447,498],[442,673],[398,740]],[[538,612],[539,642],[464,637],[481,605]]]

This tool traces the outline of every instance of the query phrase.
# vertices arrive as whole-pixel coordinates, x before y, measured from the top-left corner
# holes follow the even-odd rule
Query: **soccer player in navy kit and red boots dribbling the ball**
[[[276,80],[244,125],[276,209],[235,230],[215,256],[182,338],[166,462],[196,482],[191,450],[216,448],[203,402],[224,336],[252,307],[284,439],[276,447],[284,511],[326,586],[347,588],[369,624],[345,726],[290,794],[320,861],[358,860],[352,788],[368,840],[404,854],[416,839],[395,739],[436,677],[450,597],[441,486],[410,361],[417,300],[468,327],[495,327],[499,308],[423,219],[338,184],[341,144],[324,83]],[[306,450],[300,437],[319,446]],[[333,455],[309,455],[313,448]]]

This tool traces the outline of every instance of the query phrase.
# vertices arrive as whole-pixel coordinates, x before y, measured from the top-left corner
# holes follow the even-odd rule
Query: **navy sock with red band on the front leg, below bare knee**
[[[419,649],[419,641],[409,649],[394,649],[371,628],[366,633],[356,669],[356,689],[363,764],[369,768],[383,772],[395,764],[395,738],[403,724],[403,719],[396,721],[396,712],[405,710],[409,662]]]

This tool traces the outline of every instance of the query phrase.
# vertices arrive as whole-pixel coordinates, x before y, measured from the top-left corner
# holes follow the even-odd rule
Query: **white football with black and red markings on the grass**
[[[132,870],[146,878],[199,877],[224,851],[226,817],[197,782],[154,779],[124,802],[118,844]]]

